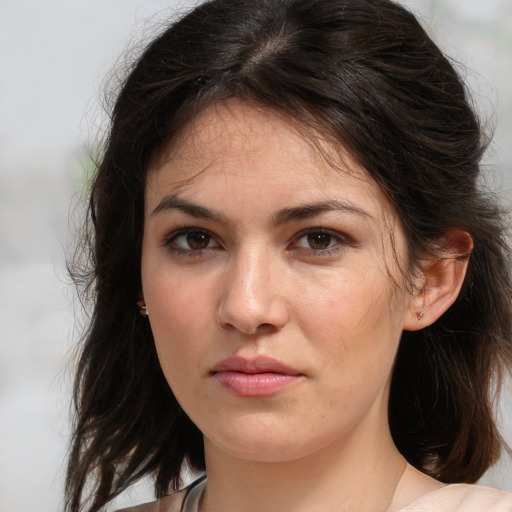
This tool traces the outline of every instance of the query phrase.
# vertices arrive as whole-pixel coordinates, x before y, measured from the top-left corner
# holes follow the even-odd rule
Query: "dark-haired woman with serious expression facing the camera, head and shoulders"
[[[134,510],[510,510],[446,485],[497,459],[512,365],[484,149],[388,0],[214,0],[170,26],[92,187],[67,510],[144,475],[158,501]],[[185,469],[207,478],[169,494]]]

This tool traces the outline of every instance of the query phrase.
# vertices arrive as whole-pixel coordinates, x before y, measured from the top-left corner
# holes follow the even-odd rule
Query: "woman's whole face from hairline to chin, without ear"
[[[176,398],[215,446],[292,460],[384,435],[410,316],[388,201],[270,110],[204,110],[148,174],[143,294]]]

